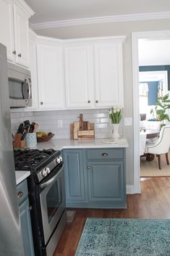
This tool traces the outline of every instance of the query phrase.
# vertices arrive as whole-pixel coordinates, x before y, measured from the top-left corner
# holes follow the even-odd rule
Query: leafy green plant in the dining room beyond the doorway
[[[169,119],[169,115],[167,114],[167,110],[170,109],[169,104],[169,94],[166,94],[164,96],[158,97],[158,102],[156,103],[156,115],[157,120],[162,121],[161,127],[165,125],[164,121]]]

